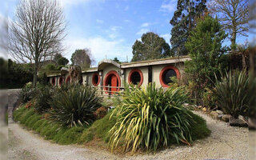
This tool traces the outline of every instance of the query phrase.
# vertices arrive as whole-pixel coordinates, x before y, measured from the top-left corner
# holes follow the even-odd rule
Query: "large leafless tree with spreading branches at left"
[[[34,64],[33,86],[42,62],[62,50],[65,17],[55,0],[21,0],[10,22],[10,54],[18,62]]]

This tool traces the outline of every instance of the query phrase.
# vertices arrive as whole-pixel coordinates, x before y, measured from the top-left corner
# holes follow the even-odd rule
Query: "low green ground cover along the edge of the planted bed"
[[[196,122],[196,125],[192,126],[193,140],[209,136],[210,130],[207,129],[205,120],[196,114],[193,114],[193,119]],[[20,122],[29,130],[34,130],[47,140],[61,145],[68,145],[74,143],[84,144],[94,138],[109,142],[108,131],[114,126],[116,118],[110,119],[109,113],[104,118],[95,121],[89,128],[82,126],[64,128],[60,124],[46,119],[43,115],[37,114],[33,108],[26,109],[25,106],[22,106],[14,111],[14,121]]]

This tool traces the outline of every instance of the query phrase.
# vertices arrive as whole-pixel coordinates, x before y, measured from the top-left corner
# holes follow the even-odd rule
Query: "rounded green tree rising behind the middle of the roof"
[[[142,34],[142,41],[134,42],[132,62],[170,57],[170,46],[164,38],[148,32]]]

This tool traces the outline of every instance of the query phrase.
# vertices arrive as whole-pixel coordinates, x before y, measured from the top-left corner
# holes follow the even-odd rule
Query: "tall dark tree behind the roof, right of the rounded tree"
[[[185,43],[195,26],[195,18],[206,11],[206,0],[178,0],[177,10],[170,20],[171,53],[179,56],[188,54]]]

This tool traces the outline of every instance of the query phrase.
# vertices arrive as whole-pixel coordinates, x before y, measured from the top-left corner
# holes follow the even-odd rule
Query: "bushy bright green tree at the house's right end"
[[[200,19],[185,46],[191,61],[186,62],[185,73],[194,84],[194,98],[202,99],[205,87],[211,87],[209,78],[226,67],[226,46],[222,42],[227,34],[217,18],[209,15]]]

